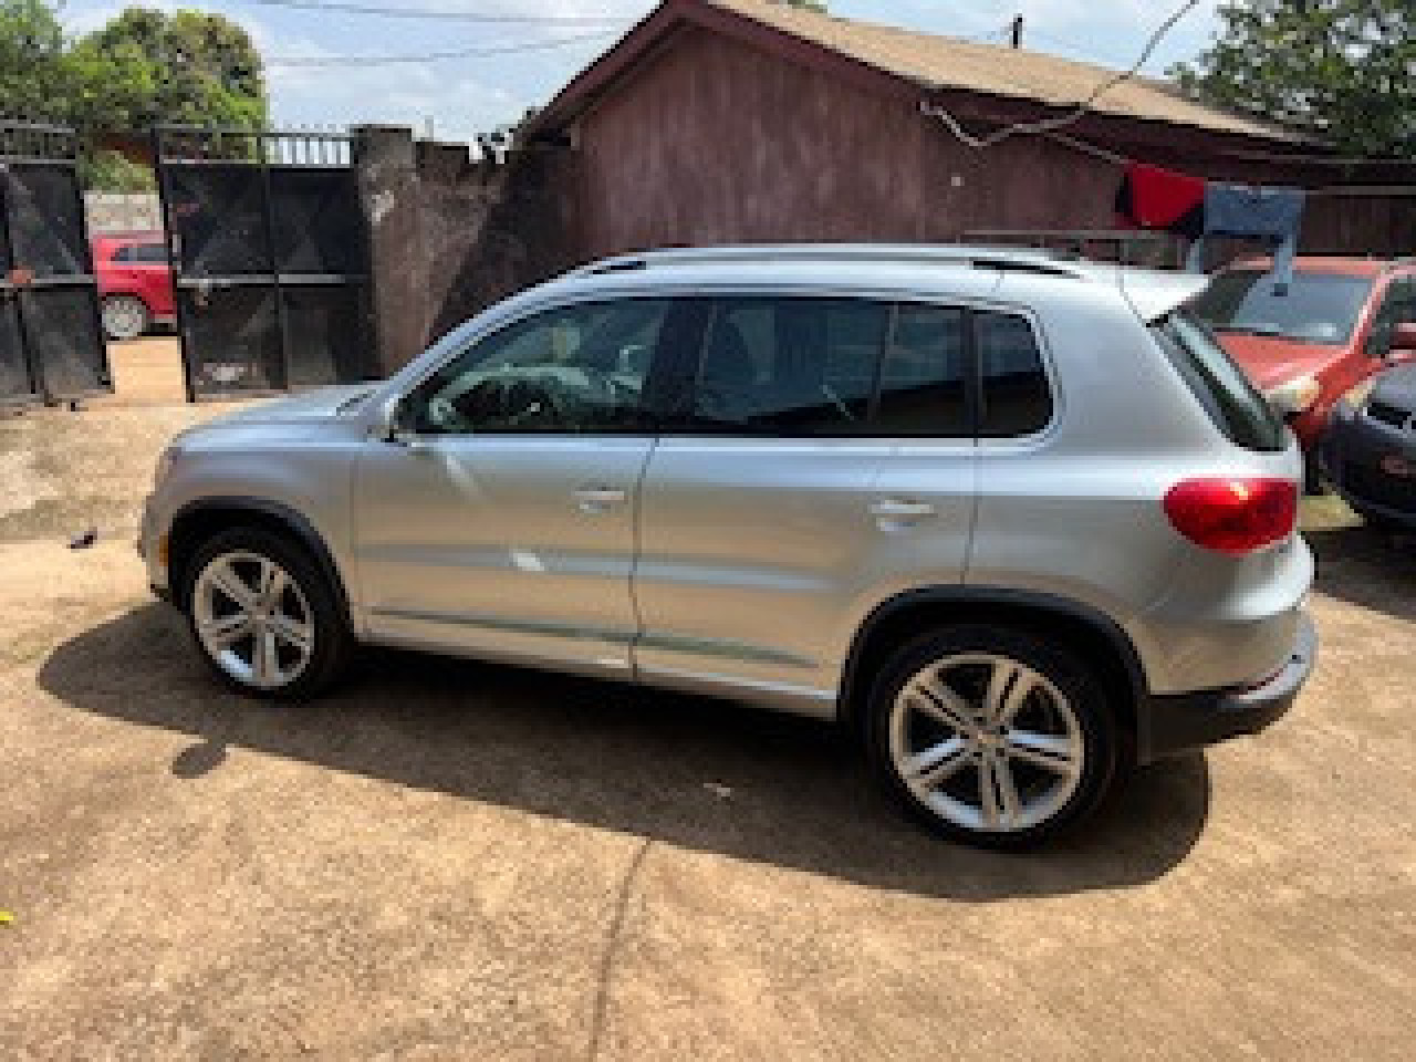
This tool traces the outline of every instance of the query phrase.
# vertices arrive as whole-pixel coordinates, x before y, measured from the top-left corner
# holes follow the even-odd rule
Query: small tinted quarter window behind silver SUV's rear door
[[[980,438],[1041,432],[1052,419],[1052,391],[1032,326],[1007,313],[976,313],[973,320],[981,382]]]

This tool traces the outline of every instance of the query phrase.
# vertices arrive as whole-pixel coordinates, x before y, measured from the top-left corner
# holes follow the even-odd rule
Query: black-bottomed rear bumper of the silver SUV
[[[1257,733],[1289,711],[1313,673],[1317,654],[1317,629],[1303,615],[1289,661],[1263,685],[1148,698],[1137,712],[1137,763]]]

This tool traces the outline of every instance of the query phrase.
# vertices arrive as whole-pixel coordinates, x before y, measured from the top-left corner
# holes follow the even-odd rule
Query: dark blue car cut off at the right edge
[[[1368,524],[1416,531],[1416,365],[1352,388],[1334,409],[1321,460]]]

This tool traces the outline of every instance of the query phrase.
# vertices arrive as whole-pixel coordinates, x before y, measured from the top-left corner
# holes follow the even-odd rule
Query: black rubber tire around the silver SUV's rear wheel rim
[[[1055,811],[1048,813],[1045,820],[1035,824],[986,828],[952,821],[940,810],[923,803],[895,766],[891,748],[892,719],[895,715],[895,702],[901,691],[918,673],[936,661],[959,661],[974,654],[1007,657],[1031,668],[1066,698],[1066,704],[1076,721],[1082,763],[1080,769],[1075,772],[1075,787],[1066,796],[1065,803],[1059,803]],[[964,666],[977,667],[967,663]],[[1051,695],[1045,694],[1042,701],[1028,698],[1028,707],[1022,711],[1049,711],[1046,708],[1051,704],[1046,700],[1048,697]],[[889,658],[879,675],[877,675],[864,722],[871,769],[885,790],[912,817],[933,831],[949,840],[983,848],[1010,851],[1035,848],[1052,840],[1059,833],[1075,827],[1095,811],[1106,797],[1116,777],[1117,762],[1120,759],[1116,715],[1112,705],[1107,704],[1106,694],[1092,668],[1072,653],[1055,649],[1035,634],[1008,627],[983,624],[942,627],[903,646]],[[926,721],[926,725],[932,725],[930,721]],[[947,731],[943,732],[947,733]],[[1032,765],[1024,765],[1024,769],[1028,772],[1038,770]],[[973,775],[970,776],[967,772],[973,772]],[[1017,777],[1011,773],[1010,779],[1017,782]],[[956,783],[964,789],[971,784],[976,787],[976,792],[981,793],[981,789],[978,789],[983,784],[981,767],[963,767],[959,777],[947,784],[953,786]],[[1031,784],[1034,792],[1049,792],[1051,786],[1045,777],[1034,779]],[[1073,783],[1069,780],[1056,784],[1065,789]],[[1015,792],[1021,793],[1024,790]],[[1046,801],[1039,801],[1039,806],[1046,806]]]

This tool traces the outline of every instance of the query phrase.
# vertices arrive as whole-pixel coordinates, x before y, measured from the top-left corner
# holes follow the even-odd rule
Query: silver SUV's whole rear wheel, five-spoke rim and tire
[[[1021,632],[937,630],[871,697],[877,775],[916,817],[988,848],[1028,848],[1086,817],[1116,772],[1110,707],[1089,668]]]

